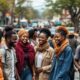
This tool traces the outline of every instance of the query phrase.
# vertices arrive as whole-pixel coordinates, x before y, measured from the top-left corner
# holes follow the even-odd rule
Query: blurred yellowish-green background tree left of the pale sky
[[[38,11],[32,7],[22,6],[26,0],[18,0],[17,7],[15,8],[15,15],[19,17],[26,17],[27,19],[32,19],[38,17]]]

